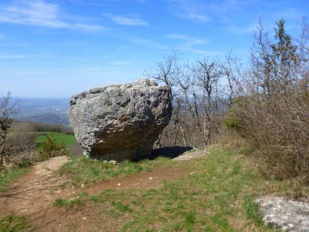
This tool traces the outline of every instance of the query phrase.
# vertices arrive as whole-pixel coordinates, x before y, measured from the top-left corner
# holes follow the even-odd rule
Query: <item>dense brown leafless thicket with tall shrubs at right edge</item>
[[[255,34],[252,68],[235,106],[241,135],[258,150],[275,178],[309,183],[309,80],[307,57],[284,30],[273,42],[264,28]],[[303,47],[304,48],[304,47]]]

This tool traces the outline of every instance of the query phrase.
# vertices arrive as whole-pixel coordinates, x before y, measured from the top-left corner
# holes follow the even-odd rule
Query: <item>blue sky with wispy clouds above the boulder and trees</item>
[[[308,12],[305,0],[1,0],[0,93],[70,97],[131,82],[172,48],[182,62],[247,60],[260,16],[268,30],[284,17],[297,36]]]

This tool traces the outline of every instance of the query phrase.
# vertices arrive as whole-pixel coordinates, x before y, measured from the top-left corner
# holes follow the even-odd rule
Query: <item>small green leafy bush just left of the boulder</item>
[[[41,148],[39,148],[40,156],[39,159],[45,160],[52,158],[54,156],[69,155],[68,150],[65,147],[65,143],[56,143],[56,138],[54,135],[47,135],[45,141],[41,143]]]

